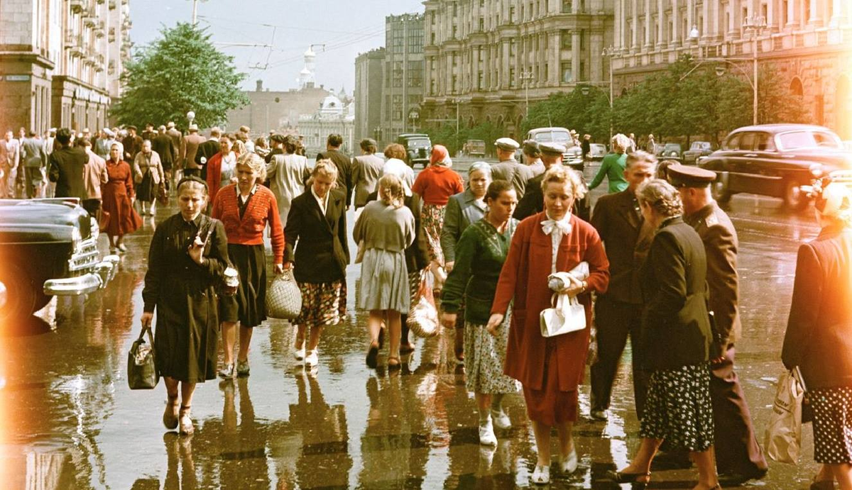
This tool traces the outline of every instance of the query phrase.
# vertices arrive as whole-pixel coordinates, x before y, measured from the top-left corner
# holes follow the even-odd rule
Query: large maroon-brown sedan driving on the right
[[[699,167],[716,172],[713,195],[719,202],[751,192],[780,197],[788,208],[799,210],[809,202],[802,186],[832,171],[852,169],[852,151],[828,128],[762,124],[734,129]]]

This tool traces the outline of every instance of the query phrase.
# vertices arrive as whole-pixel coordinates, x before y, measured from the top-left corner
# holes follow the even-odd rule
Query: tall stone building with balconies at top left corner
[[[129,0],[0,2],[0,128],[107,126],[129,15]]]

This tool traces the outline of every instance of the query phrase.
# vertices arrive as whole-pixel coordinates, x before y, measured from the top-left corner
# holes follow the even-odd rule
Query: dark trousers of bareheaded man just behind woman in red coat
[[[625,351],[627,337],[633,353],[633,396],[636,415],[642,419],[648,396],[648,378],[651,372],[643,368],[639,347],[642,318],[641,305],[633,305],[600,296],[595,304],[597,328],[597,359],[591,366],[592,410],[606,410],[613,394],[613,382],[619,373],[621,354]]]

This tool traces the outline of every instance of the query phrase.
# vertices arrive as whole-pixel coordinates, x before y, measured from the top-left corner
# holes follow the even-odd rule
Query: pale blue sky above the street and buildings
[[[137,46],[150,43],[163,26],[188,22],[192,12],[192,0],[130,0],[130,38]],[[201,0],[199,25],[214,43],[273,45],[218,46],[248,73],[247,89],[258,78],[272,90],[296,88],[302,53],[309,44],[325,43],[325,52],[314,48],[316,82],[351,94],[355,57],[384,45],[385,15],[406,12],[423,12],[422,0]]]

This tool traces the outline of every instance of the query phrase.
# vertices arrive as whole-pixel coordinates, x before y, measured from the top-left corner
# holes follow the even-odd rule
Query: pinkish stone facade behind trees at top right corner
[[[681,54],[744,77],[757,54],[803,97],[814,122],[852,139],[849,0],[616,0],[615,18],[616,94]]]

